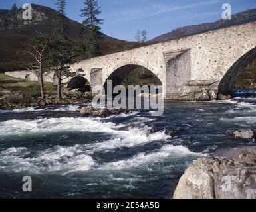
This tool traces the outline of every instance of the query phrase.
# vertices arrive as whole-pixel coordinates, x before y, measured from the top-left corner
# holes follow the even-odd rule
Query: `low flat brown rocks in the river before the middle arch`
[[[96,109],[92,106],[82,107],[80,109],[80,114],[84,117],[101,117],[107,118],[111,115],[120,115],[120,114],[130,114],[132,113],[129,109]]]

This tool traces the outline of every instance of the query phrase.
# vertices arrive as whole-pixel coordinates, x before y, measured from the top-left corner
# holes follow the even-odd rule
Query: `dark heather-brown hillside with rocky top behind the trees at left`
[[[36,34],[51,33],[55,27],[54,19],[57,11],[45,6],[32,5],[33,19],[24,21],[22,10],[13,13],[0,9],[0,71],[19,68],[19,61],[29,61],[31,56],[26,54],[26,42]],[[68,38],[74,42],[80,41],[82,24],[65,18],[68,25]],[[122,50],[136,48],[140,44],[126,42],[104,35],[100,42],[102,54],[110,54]]]

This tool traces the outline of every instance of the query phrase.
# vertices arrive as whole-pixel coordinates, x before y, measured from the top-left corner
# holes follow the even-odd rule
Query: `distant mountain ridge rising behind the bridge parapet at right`
[[[231,20],[220,19],[219,21],[215,21],[213,23],[203,23],[200,25],[191,25],[177,28],[176,30],[172,30],[172,32],[157,36],[156,38],[149,40],[148,42],[163,42],[166,40],[173,40],[182,36],[189,36],[192,34],[199,34],[210,30],[217,30],[219,28],[241,25],[243,23],[248,23],[251,21],[256,21],[256,9],[249,9],[247,11],[232,15]]]

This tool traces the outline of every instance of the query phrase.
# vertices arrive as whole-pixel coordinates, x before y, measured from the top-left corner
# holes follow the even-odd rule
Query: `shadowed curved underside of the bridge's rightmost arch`
[[[255,58],[256,47],[241,56],[241,58],[239,58],[237,62],[235,62],[235,64],[233,64],[233,66],[227,70],[227,73],[221,79],[221,82],[219,83],[219,94],[231,95],[235,81],[243,70],[245,70],[245,68],[249,65],[251,60]]]

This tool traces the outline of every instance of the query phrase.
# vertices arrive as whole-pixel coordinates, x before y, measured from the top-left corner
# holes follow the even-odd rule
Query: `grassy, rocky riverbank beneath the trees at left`
[[[46,98],[41,99],[37,81],[25,81],[0,74],[0,109],[25,109],[46,105],[71,105],[89,103],[90,92],[83,93],[79,89],[63,89],[63,99],[58,100],[53,83],[44,83]]]

